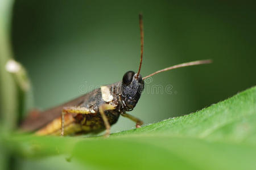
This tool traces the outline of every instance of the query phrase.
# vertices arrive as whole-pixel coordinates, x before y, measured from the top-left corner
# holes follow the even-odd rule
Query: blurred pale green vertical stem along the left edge
[[[6,63],[13,57],[10,45],[10,20],[13,1],[0,1],[0,122],[4,131],[16,126],[18,101],[15,80],[6,70]]]

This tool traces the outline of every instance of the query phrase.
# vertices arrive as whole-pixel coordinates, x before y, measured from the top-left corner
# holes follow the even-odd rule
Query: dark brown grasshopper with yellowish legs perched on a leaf
[[[134,121],[136,128],[140,128],[143,122],[126,112],[132,111],[138,103],[144,88],[144,79],[163,71],[212,62],[207,59],[181,63],[142,77],[140,74],[144,44],[142,14],[139,14],[139,28],[141,59],[137,73],[127,71],[120,82],[101,86],[59,107],[29,116],[21,125],[22,129],[37,130],[38,135],[86,134],[106,130],[105,137],[108,137],[110,126],[117,122],[120,115]]]

